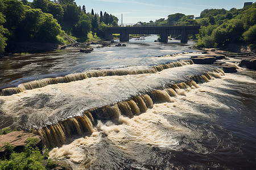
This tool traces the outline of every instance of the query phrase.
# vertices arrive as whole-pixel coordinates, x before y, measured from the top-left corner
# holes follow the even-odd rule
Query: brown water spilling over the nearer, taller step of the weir
[[[94,126],[100,120],[102,122],[112,121],[119,124],[119,116],[123,115],[129,118],[138,116],[154,107],[155,103],[172,102],[172,97],[185,95],[186,89],[195,89],[199,86],[197,83],[209,82],[210,79],[221,78],[224,72],[221,69],[214,69],[212,72],[203,75],[191,76],[188,81],[171,84],[170,87],[163,90],[153,90],[139,96],[134,96],[129,100],[115,103],[111,106],[93,108],[84,111],[82,116],[67,118],[58,124],[47,125],[37,130],[49,147],[61,146],[72,142],[72,138],[81,137],[93,133]]]

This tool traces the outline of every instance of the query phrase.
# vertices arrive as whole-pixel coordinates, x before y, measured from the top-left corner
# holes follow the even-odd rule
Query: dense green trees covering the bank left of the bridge
[[[90,31],[104,37],[106,27],[117,23],[112,14],[86,12],[85,5],[77,6],[73,0],[0,0],[0,54],[19,41],[64,42],[64,32],[81,41]]]

